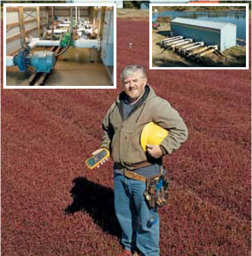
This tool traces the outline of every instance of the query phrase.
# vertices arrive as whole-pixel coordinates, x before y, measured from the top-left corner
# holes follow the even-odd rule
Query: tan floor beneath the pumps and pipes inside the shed
[[[36,48],[36,51],[43,50]],[[49,50],[49,49],[48,49]],[[108,72],[96,51],[94,63],[90,62],[91,50],[88,48],[72,48],[61,55],[51,74],[48,75],[47,86],[109,86],[112,85]],[[33,68],[21,73],[18,67],[6,67],[6,85],[27,85]],[[37,84],[35,84],[37,85]]]

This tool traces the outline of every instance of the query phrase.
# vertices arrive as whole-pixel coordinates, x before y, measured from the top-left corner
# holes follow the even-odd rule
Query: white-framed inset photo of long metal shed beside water
[[[150,3],[150,69],[249,69],[249,4]]]

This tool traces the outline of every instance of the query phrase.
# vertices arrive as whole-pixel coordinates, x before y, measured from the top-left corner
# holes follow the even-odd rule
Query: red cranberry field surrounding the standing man
[[[132,62],[148,68],[148,21],[118,19],[117,28],[117,74]],[[164,160],[171,185],[159,210],[161,255],[251,255],[251,66],[147,73],[189,129]],[[3,89],[1,80],[3,256],[121,251],[113,163],[85,166],[119,91]]]

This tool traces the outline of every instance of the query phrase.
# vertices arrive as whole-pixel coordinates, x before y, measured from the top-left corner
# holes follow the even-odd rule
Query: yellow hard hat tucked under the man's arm
[[[141,134],[141,146],[146,151],[146,145],[160,145],[168,131],[158,124],[150,122],[144,126]]]

